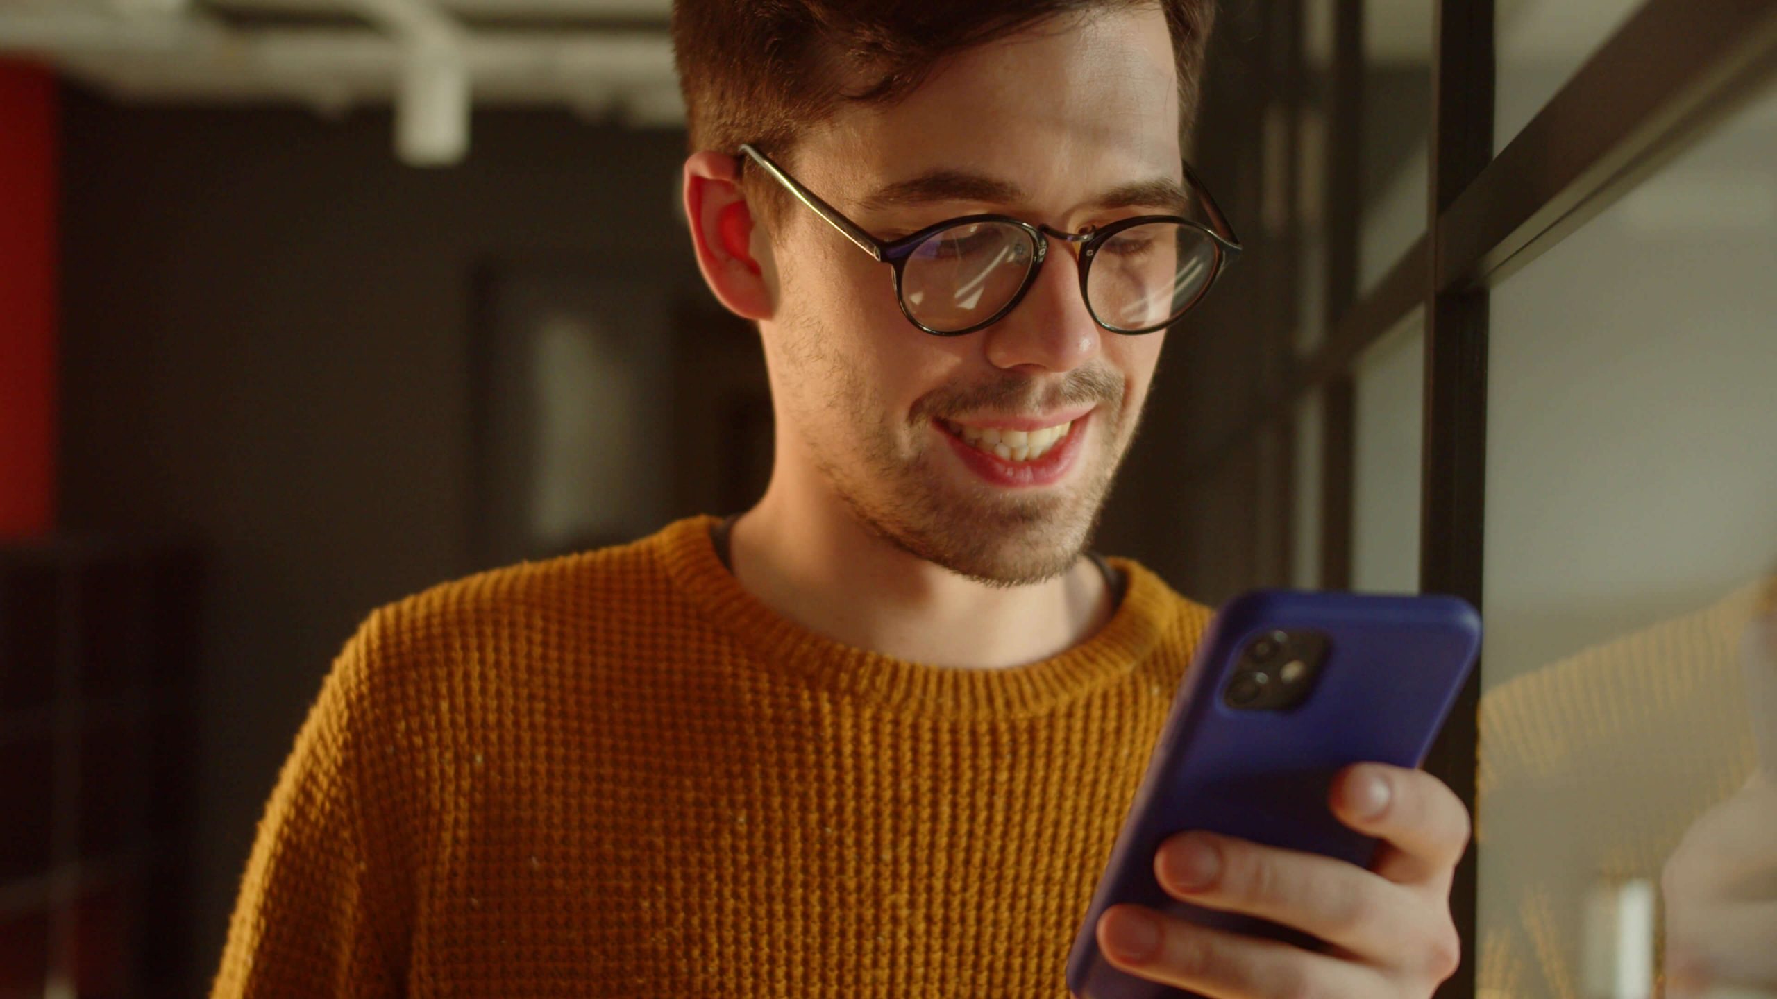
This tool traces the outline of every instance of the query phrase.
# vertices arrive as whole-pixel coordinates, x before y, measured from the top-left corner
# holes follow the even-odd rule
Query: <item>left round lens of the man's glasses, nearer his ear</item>
[[[901,268],[901,300],[928,329],[983,324],[1024,286],[1036,245],[1009,222],[968,222],[919,244]]]

